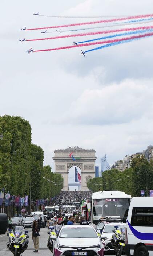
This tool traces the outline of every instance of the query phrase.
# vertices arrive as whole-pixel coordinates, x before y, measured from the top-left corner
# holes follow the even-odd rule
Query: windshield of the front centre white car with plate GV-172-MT
[[[64,227],[61,230],[60,238],[97,238],[97,233],[93,228],[83,227]]]

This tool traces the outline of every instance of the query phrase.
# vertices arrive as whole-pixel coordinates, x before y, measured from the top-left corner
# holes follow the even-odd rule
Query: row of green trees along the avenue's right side
[[[153,190],[153,162],[137,155],[129,169],[124,172],[117,169],[105,171],[102,177],[90,179],[87,186],[92,192],[120,190],[135,197],[140,196],[140,190],[144,190],[149,196],[149,190]]]

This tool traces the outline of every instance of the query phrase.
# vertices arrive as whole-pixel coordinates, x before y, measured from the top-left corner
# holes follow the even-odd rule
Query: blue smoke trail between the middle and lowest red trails
[[[121,34],[109,35],[109,36],[104,36],[104,37],[100,37],[100,38],[90,39],[90,40],[86,40],[86,41],[82,41],[82,42],[77,42],[77,44],[79,44],[79,43],[88,43],[88,42],[93,42],[93,41],[97,41],[97,40],[101,40],[101,39],[113,38],[113,37],[117,37],[117,36],[141,34],[141,33],[152,32],[152,31],[153,31],[153,28],[151,28],[151,29],[144,29],[144,30],[130,31],[130,32],[125,32],[125,33],[121,33]]]

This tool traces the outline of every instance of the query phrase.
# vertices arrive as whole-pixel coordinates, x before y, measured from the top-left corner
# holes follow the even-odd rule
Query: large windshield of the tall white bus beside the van
[[[129,205],[128,198],[93,199],[93,222],[106,216],[127,218]]]

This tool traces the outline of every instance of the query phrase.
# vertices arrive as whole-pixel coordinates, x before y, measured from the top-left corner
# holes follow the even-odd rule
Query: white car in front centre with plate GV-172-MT
[[[53,256],[104,256],[102,238],[90,225],[62,226],[57,236],[51,236],[53,243]]]

